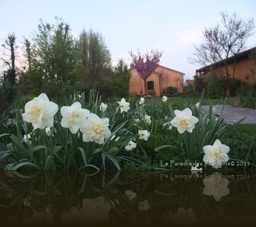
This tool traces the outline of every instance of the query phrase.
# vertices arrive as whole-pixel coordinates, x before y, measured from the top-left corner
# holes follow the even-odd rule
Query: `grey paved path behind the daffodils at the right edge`
[[[213,108],[216,108],[216,114],[220,115],[222,110],[222,105],[213,105]],[[202,106],[201,109],[203,114],[207,114],[209,112],[209,106]],[[222,117],[225,122],[231,123],[234,121],[241,120],[244,116],[247,118],[242,122],[243,124],[256,124],[256,110],[250,108],[241,108],[234,107],[232,105],[225,105],[224,110],[222,112]]]

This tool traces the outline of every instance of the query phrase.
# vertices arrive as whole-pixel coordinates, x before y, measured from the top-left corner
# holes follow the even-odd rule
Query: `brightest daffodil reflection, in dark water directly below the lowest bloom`
[[[203,193],[205,195],[213,195],[216,201],[219,201],[222,196],[229,194],[229,189],[227,188],[229,180],[226,178],[221,178],[220,173],[214,173],[203,180],[205,189]]]

